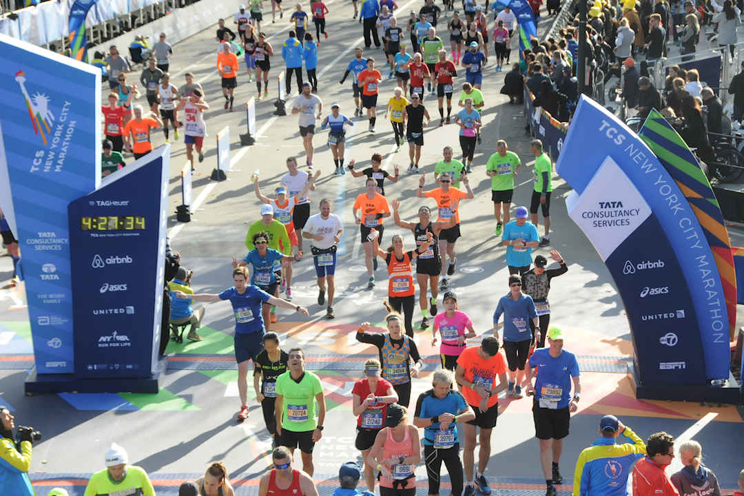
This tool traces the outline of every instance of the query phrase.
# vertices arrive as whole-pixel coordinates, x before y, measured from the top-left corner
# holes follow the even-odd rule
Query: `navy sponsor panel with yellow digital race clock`
[[[77,377],[155,370],[169,157],[170,146],[161,146],[69,205]]]

